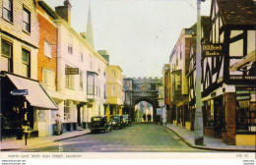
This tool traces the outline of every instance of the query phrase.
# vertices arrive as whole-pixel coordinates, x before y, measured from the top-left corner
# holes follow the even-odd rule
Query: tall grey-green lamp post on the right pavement
[[[195,144],[204,144],[204,133],[203,133],[203,113],[202,113],[202,100],[201,100],[201,1],[197,0],[197,46],[196,46],[196,112],[195,112]]]

